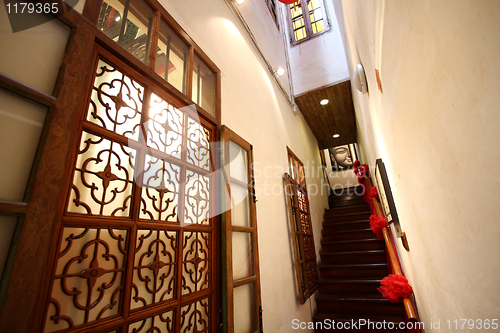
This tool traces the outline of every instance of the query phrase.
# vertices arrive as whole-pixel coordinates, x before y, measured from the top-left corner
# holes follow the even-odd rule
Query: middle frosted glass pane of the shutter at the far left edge
[[[46,116],[47,107],[0,90],[0,200],[23,201]]]

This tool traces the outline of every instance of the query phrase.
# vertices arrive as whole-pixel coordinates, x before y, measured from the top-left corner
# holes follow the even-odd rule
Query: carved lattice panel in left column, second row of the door
[[[83,132],[68,211],[129,216],[135,158],[134,149]]]

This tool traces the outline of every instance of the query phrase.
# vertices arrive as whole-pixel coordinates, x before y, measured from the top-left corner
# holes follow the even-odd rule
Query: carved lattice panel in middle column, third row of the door
[[[138,230],[130,307],[175,299],[177,231]]]

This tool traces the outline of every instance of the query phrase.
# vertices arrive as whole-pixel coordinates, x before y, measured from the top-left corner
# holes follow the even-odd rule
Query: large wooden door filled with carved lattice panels
[[[96,46],[44,332],[214,332],[216,126]]]

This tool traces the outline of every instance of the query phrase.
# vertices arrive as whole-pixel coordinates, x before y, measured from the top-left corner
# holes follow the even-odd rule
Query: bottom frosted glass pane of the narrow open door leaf
[[[234,288],[234,332],[254,332],[255,318],[254,283]]]

